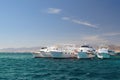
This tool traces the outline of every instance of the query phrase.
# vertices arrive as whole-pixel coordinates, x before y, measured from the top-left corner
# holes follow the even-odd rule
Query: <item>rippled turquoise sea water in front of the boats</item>
[[[1,53],[0,80],[120,80],[120,59],[44,59]]]

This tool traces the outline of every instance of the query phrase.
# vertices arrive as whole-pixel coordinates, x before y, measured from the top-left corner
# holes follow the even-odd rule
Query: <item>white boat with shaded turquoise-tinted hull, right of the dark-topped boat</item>
[[[96,53],[97,57],[100,59],[110,58],[108,47],[100,47]]]

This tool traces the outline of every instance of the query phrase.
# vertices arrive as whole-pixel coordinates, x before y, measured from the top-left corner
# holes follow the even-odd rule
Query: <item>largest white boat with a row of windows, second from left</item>
[[[57,47],[56,50],[51,51],[52,58],[76,58],[77,52],[75,52],[75,46],[63,45]]]

